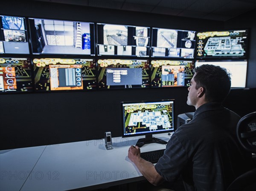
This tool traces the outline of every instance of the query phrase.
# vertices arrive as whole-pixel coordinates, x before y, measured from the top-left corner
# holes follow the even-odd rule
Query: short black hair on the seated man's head
[[[226,68],[204,64],[194,69],[196,89],[205,89],[205,98],[209,102],[223,102],[230,92],[231,78]]]

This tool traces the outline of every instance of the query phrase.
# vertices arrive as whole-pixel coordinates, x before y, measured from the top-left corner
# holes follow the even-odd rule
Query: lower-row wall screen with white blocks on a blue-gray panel
[[[99,88],[149,87],[148,60],[98,60]]]

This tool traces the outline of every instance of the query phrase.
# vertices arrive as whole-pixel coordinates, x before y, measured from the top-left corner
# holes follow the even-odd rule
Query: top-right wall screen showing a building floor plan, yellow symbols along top
[[[247,57],[248,30],[197,33],[197,58]]]

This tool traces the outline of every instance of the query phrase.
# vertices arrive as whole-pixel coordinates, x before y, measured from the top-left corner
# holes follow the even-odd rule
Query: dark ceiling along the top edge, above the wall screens
[[[256,0],[40,0],[179,17],[227,21],[256,9]]]

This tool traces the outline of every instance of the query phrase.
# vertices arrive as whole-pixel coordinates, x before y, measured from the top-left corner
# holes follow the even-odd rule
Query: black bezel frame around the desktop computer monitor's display
[[[173,102],[173,110],[172,110],[172,124],[173,129],[166,130],[166,131],[154,131],[149,133],[141,133],[141,134],[131,134],[131,135],[125,135],[125,128],[124,128],[124,114],[123,114],[123,104],[129,104],[129,103],[149,103],[149,102],[166,102],[166,101],[172,101]],[[139,137],[139,136],[145,136],[145,135],[154,135],[154,134],[163,134],[163,133],[169,133],[174,132],[176,130],[175,128],[175,99],[167,99],[167,100],[143,100],[143,101],[123,101],[120,103],[121,106],[121,118],[122,118],[122,137]]]

